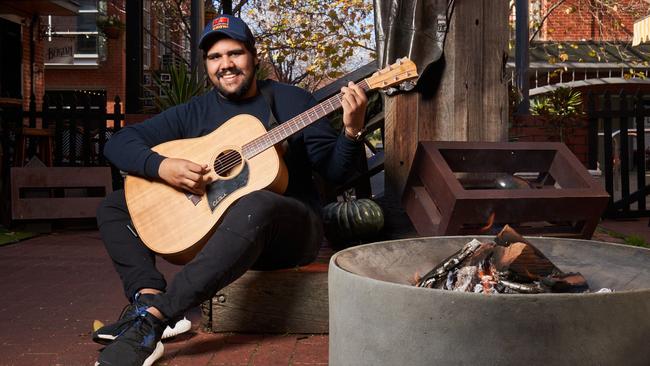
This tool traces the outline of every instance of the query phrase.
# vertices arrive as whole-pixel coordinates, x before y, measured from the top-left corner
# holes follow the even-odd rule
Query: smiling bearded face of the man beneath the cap
[[[232,38],[216,41],[207,52],[205,67],[212,84],[221,95],[239,100],[257,93],[255,84],[256,55],[244,43]]]

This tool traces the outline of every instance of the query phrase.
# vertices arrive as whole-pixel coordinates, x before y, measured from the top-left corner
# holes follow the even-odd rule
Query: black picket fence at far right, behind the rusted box
[[[587,94],[589,169],[602,167],[610,202],[606,217],[650,216],[650,100],[640,93]]]

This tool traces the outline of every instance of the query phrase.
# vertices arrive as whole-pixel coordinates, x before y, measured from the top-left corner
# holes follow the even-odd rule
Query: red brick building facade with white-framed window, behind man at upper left
[[[48,35],[55,49],[74,47],[73,56],[45,60],[45,93],[70,103],[90,98],[93,105],[106,104],[113,111],[118,96],[125,110],[126,12],[125,0],[80,0],[80,14],[48,17]],[[152,74],[178,60],[188,48],[181,34],[170,30],[172,19],[143,0],[142,61],[143,107],[153,106]],[[113,24],[107,24],[111,21]],[[61,46],[57,45],[57,42]],[[58,48],[57,48],[58,46]],[[59,55],[62,52],[54,52]],[[47,53],[46,55],[51,55]]]

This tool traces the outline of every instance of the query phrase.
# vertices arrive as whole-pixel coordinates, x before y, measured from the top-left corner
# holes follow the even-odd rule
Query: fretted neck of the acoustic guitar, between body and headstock
[[[361,89],[368,91],[368,83],[363,80],[357,83]],[[274,127],[264,135],[257,137],[251,142],[242,146],[242,155],[246,159],[250,159],[255,155],[265,151],[266,149],[274,146],[275,144],[284,141],[287,137],[293,135],[318,121],[320,118],[334,112],[341,108],[341,100],[343,94],[339,93],[324,102],[306,110],[305,112],[293,117],[292,119]]]

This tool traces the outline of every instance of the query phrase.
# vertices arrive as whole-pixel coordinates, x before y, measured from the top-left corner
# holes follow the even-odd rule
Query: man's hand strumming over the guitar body
[[[199,165],[185,159],[165,158],[160,163],[158,175],[174,188],[203,195],[205,185],[210,183],[206,175],[210,169],[207,164]]]

